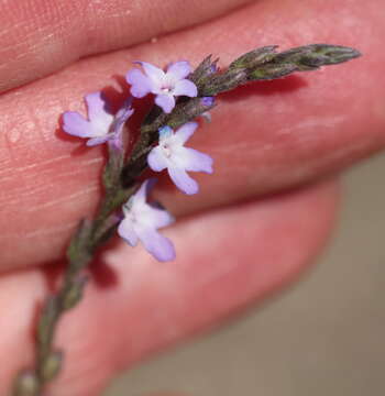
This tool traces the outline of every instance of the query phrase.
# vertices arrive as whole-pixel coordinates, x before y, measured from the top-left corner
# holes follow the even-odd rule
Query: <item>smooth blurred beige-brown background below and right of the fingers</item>
[[[345,175],[334,238],[298,284],[122,375],[105,395],[384,395],[384,155]]]

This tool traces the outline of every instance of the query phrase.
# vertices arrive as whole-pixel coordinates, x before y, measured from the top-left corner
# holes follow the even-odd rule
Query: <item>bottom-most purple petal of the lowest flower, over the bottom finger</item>
[[[152,229],[141,228],[136,230],[138,237],[145,250],[160,262],[175,260],[173,242]]]

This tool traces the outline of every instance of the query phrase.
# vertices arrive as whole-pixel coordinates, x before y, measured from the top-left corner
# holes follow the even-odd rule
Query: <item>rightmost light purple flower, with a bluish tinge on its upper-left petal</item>
[[[161,128],[158,145],[147,156],[153,170],[167,168],[175,185],[188,195],[198,193],[199,186],[186,170],[212,173],[212,158],[209,155],[184,146],[197,127],[196,122],[187,122],[176,132],[169,127]]]

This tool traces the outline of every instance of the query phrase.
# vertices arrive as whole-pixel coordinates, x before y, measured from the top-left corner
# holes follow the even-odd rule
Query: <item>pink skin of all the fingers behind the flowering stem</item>
[[[219,98],[189,141],[215,174],[194,175],[197,196],[166,177],[154,195],[178,217],[164,232],[177,261],[120,241],[98,256],[87,298],[59,326],[67,364],[50,395],[97,395],[120,370],[295,279],[328,240],[337,175],[384,147],[381,0],[187,3],[0,1],[0,395],[31,362],[38,301],[100,197],[103,148],[65,136],[59,114],[84,111],[84,95],[99,89],[122,98],[132,61],[197,65],[212,53],[226,67],[255,46],[316,42],[365,55]]]

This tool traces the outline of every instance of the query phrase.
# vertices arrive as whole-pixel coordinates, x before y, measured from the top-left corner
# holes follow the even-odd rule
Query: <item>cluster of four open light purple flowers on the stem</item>
[[[165,114],[173,111],[177,97],[198,96],[196,85],[188,79],[191,68],[188,62],[170,64],[167,70],[145,62],[136,62],[139,68],[131,69],[127,81],[131,85],[131,96],[113,114],[102,92],[85,97],[88,119],[75,111],[63,114],[63,130],[74,136],[87,139],[88,146],[102,143],[123,150],[122,131],[125,122],[133,114],[133,98],[143,98],[147,94],[155,95],[155,103]],[[202,98],[204,105],[211,106],[213,98]],[[197,194],[198,183],[188,172],[212,173],[212,158],[199,151],[186,147],[185,143],[196,131],[196,122],[187,122],[174,131],[164,124],[158,129],[156,143],[148,150],[147,165],[154,172],[167,169],[176,187],[187,195]],[[145,180],[134,195],[122,207],[122,217],[118,226],[118,234],[131,246],[141,241],[144,248],[158,261],[175,258],[173,243],[157,232],[174,222],[174,218],[163,208],[147,204],[147,195],[156,179]]]

